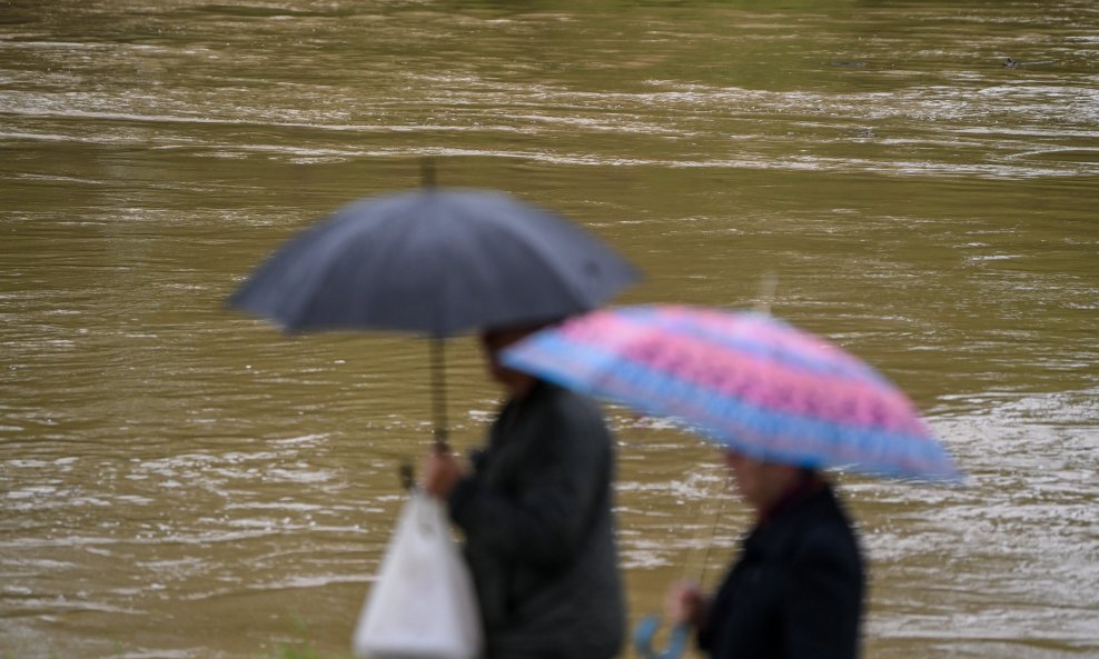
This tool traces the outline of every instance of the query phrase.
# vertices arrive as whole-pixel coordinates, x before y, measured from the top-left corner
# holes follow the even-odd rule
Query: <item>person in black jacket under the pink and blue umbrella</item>
[[[854,659],[863,561],[832,487],[811,469],[724,457],[755,526],[715,596],[673,586],[671,617],[712,659]]]

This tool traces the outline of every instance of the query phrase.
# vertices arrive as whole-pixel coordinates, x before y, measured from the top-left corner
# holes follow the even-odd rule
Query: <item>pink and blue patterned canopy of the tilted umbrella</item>
[[[679,419],[756,459],[959,478],[900,389],[839,347],[764,313],[604,309],[528,337],[503,361]]]

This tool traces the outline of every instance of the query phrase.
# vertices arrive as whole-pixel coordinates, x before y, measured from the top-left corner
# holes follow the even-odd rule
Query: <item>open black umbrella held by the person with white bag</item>
[[[445,445],[444,338],[587,311],[637,279],[554,212],[502,192],[428,186],[336,211],[283,244],[228,303],[294,332],[429,337],[435,433]]]

